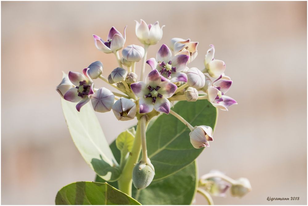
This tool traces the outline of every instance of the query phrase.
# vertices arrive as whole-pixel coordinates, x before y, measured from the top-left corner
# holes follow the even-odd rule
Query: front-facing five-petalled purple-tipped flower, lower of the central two
[[[170,101],[178,88],[169,80],[162,78],[157,69],[152,70],[146,81],[130,84],[133,93],[139,97],[139,113],[148,113],[155,109],[158,112],[169,114]]]

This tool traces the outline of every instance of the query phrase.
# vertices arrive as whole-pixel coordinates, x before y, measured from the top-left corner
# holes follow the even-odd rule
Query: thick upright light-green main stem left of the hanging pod
[[[142,117],[141,117],[142,118]],[[146,128],[149,121],[146,121]],[[137,131],[133,142],[132,151],[125,163],[120,179],[118,180],[119,189],[129,196],[132,196],[132,175],[133,168],[138,163],[141,152],[141,120],[138,120]]]

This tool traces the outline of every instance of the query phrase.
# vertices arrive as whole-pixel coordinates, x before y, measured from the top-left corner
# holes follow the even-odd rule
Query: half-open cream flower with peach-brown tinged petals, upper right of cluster
[[[172,38],[170,49],[174,55],[185,54],[190,58],[188,63],[192,62],[198,55],[197,46],[199,42],[192,42],[190,39]]]

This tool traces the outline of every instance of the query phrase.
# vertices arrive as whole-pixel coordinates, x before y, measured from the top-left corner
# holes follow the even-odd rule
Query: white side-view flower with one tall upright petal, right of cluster
[[[226,70],[226,64],[224,63],[224,61],[214,59],[214,45],[211,44],[210,47],[211,48],[207,50],[207,54],[205,55],[204,65],[206,72],[211,77],[217,78],[220,75],[224,74],[224,71]]]

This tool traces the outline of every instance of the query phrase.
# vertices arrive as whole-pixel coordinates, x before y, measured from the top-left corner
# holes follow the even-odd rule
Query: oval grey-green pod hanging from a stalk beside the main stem
[[[133,184],[137,189],[144,189],[152,182],[154,175],[152,164],[139,162],[133,169]]]

